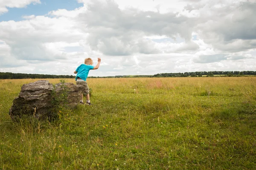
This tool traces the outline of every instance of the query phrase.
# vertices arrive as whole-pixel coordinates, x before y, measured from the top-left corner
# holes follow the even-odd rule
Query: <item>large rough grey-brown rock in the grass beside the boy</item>
[[[38,119],[53,118],[58,106],[75,107],[83,93],[82,85],[58,83],[52,85],[48,80],[39,80],[25,84],[20,94],[13,100],[9,110],[12,119],[22,115],[35,116]]]

